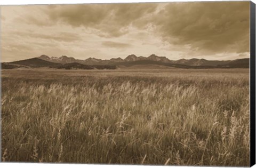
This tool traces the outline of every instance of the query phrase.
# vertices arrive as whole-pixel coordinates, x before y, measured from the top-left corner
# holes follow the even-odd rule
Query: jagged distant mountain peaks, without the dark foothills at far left
[[[62,55],[61,57],[49,57],[45,54],[41,55],[40,57],[37,57],[37,59],[45,60],[45,61],[50,61],[54,63],[61,63],[62,65],[66,63],[81,63],[83,65],[118,65],[120,63],[123,63],[124,65],[136,65],[136,64],[142,64],[145,65],[147,63],[156,63],[157,65],[160,63],[163,63],[163,65],[167,64],[175,64],[175,65],[184,65],[184,66],[222,66],[222,65],[227,65],[234,67],[237,65],[244,65],[243,67],[246,67],[246,63],[248,62],[248,59],[237,59],[233,61],[220,61],[220,60],[206,60],[206,59],[197,59],[197,58],[191,58],[191,59],[179,59],[177,61],[174,60],[169,60],[166,57],[159,57],[156,54],[151,54],[148,57],[142,57],[139,56],[137,57],[135,54],[128,55],[125,59],[122,59],[120,57],[118,58],[111,58],[107,60],[101,60],[97,58],[87,58],[85,60],[79,60],[75,59],[73,57],[68,57],[66,55]],[[126,64],[125,64],[126,63]],[[167,63],[167,64],[166,64]],[[228,63],[233,63],[233,65],[228,65]]]

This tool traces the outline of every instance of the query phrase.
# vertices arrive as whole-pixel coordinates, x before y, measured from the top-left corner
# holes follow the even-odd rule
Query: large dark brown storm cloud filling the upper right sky
[[[170,3],[154,17],[157,31],[197,52],[249,52],[250,2]]]

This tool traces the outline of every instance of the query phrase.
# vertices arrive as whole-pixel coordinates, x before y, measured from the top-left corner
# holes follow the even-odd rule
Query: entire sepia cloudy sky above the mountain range
[[[250,2],[1,6],[1,61],[248,58]]]

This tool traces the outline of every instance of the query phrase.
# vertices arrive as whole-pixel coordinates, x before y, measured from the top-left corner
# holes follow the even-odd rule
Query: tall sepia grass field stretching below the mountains
[[[4,162],[249,166],[249,69],[1,76]]]

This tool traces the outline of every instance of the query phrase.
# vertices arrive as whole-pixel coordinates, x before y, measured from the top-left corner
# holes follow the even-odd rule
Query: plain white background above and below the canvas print
[[[198,1],[198,0],[194,0],[194,1]],[[205,1],[205,0],[204,0]],[[218,0],[219,1],[219,0]],[[0,1],[0,5],[25,5],[25,4],[77,4],[77,3],[131,3],[131,2],[189,2],[189,1],[168,1],[168,0],[163,0],[163,1],[159,1],[159,0],[26,0],[26,1],[19,1],[19,0],[7,0],[7,1]],[[190,0],[190,2],[193,2]],[[252,2],[256,3],[256,0],[253,0]],[[34,163],[0,163],[0,167],[36,167],[36,168],[41,168],[41,167],[94,167],[94,168],[98,168],[98,167],[131,167],[131,168],[135,168],[135,167],[143,167],[143,168],[147,168],[147,167],[151,167],[151,166],[131,166],[131,165],[85,165],[85,164],[34,164]],[[155,167],[163,167],[163,166],[154,166],[151,168],[155,168]],[[174,166],[172,166],[174,167]],[[175,166],[175,167],[181,167],[181,166]],[[187,167],[187,166],[183,166],[183,167]],[[256,167],[255,165],[253,166],[254,168]],[[188,167],[189,168],[189,167]]]

